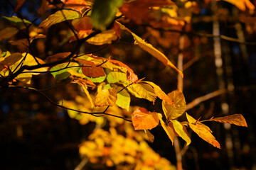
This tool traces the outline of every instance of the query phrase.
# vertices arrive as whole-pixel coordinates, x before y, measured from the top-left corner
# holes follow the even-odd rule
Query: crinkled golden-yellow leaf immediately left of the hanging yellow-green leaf
[[[95,96],[95,106],[114,106],[117,101],[117,91],[114,88],[103,89],[102,85],[98,86]]]

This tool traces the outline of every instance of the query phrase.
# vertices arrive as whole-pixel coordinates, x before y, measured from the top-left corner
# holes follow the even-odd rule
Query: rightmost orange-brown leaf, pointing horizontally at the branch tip
[[[230,123],[230,124],[234,124],[234,125],[247,127],[247,123],[246,123],[245,118],[240,114],[228,115],[228,116],[225,116],[225,117],[213,118],[213,119],[210,119],[210,120],[215,121],[215,122],[220,122],[220,123]]]

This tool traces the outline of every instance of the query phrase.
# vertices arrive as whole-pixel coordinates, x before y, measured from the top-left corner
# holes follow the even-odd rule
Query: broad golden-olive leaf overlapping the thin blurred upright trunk
[[[166,115],[166,119],[173,120],[181,116],[184,111],[186,111],[186,101],[181,89],[172,91],[168,96],[172,101],[174,101],[174,105],[163,101],[162,108]]]

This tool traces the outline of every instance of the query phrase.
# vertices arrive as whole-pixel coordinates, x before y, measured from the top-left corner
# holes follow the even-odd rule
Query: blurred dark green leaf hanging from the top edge
[[[122,3],[123,0],[95,0],[92,6],[92,25],[97,29],[106,30]]]

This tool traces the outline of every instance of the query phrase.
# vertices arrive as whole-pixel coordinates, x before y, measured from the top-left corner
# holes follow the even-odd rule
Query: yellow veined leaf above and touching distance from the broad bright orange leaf
[[[154,103],[156,100],[156,94],[154,94],[154,89],[149,84],[132,84],[127,87],[128,91],[137,98],[145,98],[148,101]]]

